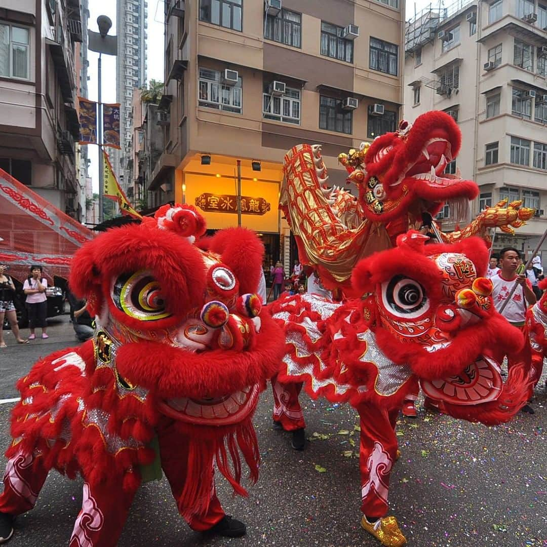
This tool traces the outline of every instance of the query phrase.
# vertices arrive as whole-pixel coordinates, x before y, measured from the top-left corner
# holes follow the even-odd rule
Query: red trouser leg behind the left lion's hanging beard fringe
[[[217,498],[214,481],[211,485],[211,500],[205,515],[191,516],[189,519],[183,515],[179,505],[179,499],[184,490],[187,478],[188,437],[179,433],[173,421],[165,421],[158,429],[158,441],[160,444],[161,467],[171,485],[171,492],[177,501],[179,513],[187,520],[190,528],[197,532],[204,532],[224,518],[224,511]],[[193,480],[200,480],[193,478]]]

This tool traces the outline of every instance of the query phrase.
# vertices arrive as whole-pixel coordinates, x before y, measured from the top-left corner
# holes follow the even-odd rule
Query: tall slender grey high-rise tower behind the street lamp
[[[120,150],[112,152],[112,166],[120,184],[127,187],[130,178],[127,158],[131,155],[131,107],[133,89],[147,83],[147,0],[118,0],[116,28],[116,100],[120,103]]]

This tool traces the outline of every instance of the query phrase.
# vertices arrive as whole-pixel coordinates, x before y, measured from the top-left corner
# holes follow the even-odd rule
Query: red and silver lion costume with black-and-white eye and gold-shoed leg
[[[312,398],[348,402],[359,412],[362,526],[391,547],[406,541],[394,517],[385,517],[397,459],[393,428],[406,395],[419,382],[447,414],[493,425],[519,411],[529,388],[521,366],[504,385],[498,363],[482,354],[523,343],[494,309],[491,281],[479,277],[485,243],[427,240],[410,231],[397,248],[360,261],[352,288],[372,293],[365,299],[295,295],[271,305],[287,342],[278,385],[304,382]]]

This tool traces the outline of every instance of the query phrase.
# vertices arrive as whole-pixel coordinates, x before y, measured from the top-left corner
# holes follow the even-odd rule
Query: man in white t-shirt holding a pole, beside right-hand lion
[[[536,304],[536,295],[532,290],[532,284],[527,280],[525,273],[517,275],[516,269],[519,265],[520,253],[513,247],[505,247],[499,252],[501,261],[501,270],[497,275],[491,278],[494,286],[492,290],[492,299],[496,310],[500,311],[505,301],[509,298],[511,290],[516,284],[516,289],[507,302],[502,315],[513,325],[524,332],[526,310],[528,305]],[[505,354],[498,348],[491,350],[491,355],[501,365]],[[530,342],[526,336],[525,344],[522,350],[507,356],[507,368],[510,370],[517,363],[531,364]],[[533,414],[531,406],[526,405],[525,412]]]

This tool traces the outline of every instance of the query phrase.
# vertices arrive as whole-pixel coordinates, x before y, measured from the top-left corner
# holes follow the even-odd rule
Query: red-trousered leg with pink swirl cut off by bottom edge
[[[84,482],[82,510],[74,523],[69,547],[115,547],[136,491],[127,492],[121,481],[93,487]]]

